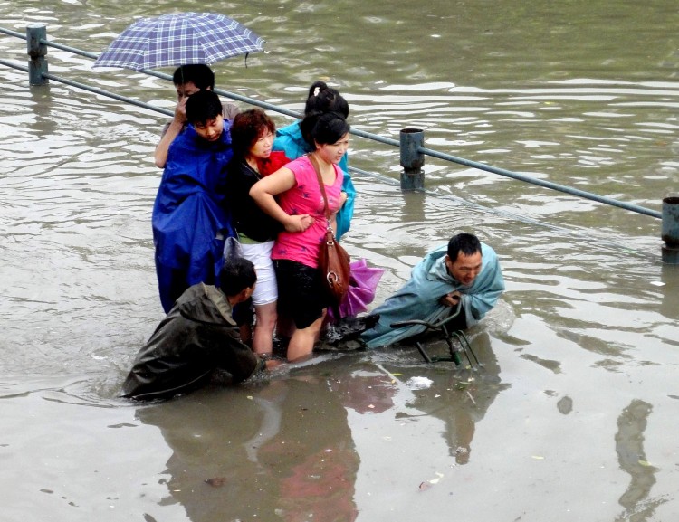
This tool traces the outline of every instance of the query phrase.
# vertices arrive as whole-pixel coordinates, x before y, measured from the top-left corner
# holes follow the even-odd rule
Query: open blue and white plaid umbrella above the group
[[[142,18],[110,43],[92,67],[153,69],[214,63],[262,51],[264,41],[224,14],[177,13]]]

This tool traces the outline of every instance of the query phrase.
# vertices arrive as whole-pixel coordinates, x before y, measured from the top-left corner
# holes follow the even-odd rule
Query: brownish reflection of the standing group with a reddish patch
[[[301,375],[139,408],[139,420],[158,426],[172,450],[171,501],[194,522],[226,513],[230,520],[354,520],[359,455],[325,381]]]

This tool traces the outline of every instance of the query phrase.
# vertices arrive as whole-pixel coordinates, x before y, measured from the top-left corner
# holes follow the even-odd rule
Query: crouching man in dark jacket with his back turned
[[[169,398],[207,384],[215,371],[240,383],[265,368],[240,338],[232,317],[236,304],[250,298],[257,276],[253,263],[225,261],[220,288],[197,283],[181,295],[148,342],[139,350],[122,396]]]

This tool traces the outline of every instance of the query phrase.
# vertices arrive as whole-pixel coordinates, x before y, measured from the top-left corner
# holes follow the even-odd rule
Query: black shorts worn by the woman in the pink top
[[[289,260],[273,260],[273,268],[278,281],[279,314],[292,318],[298,329],[310,327],[330,305],[320,270]]]

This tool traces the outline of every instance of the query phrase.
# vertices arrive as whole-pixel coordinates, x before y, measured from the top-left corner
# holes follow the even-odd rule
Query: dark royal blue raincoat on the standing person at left
[[[218,285],[224,241],[233,236],[225,209],[225,166],[233,156],[229,122],[215,142],[193,126],[177,136],[153,206],[153,242],[160,301],[166,313],[190,286]]]

